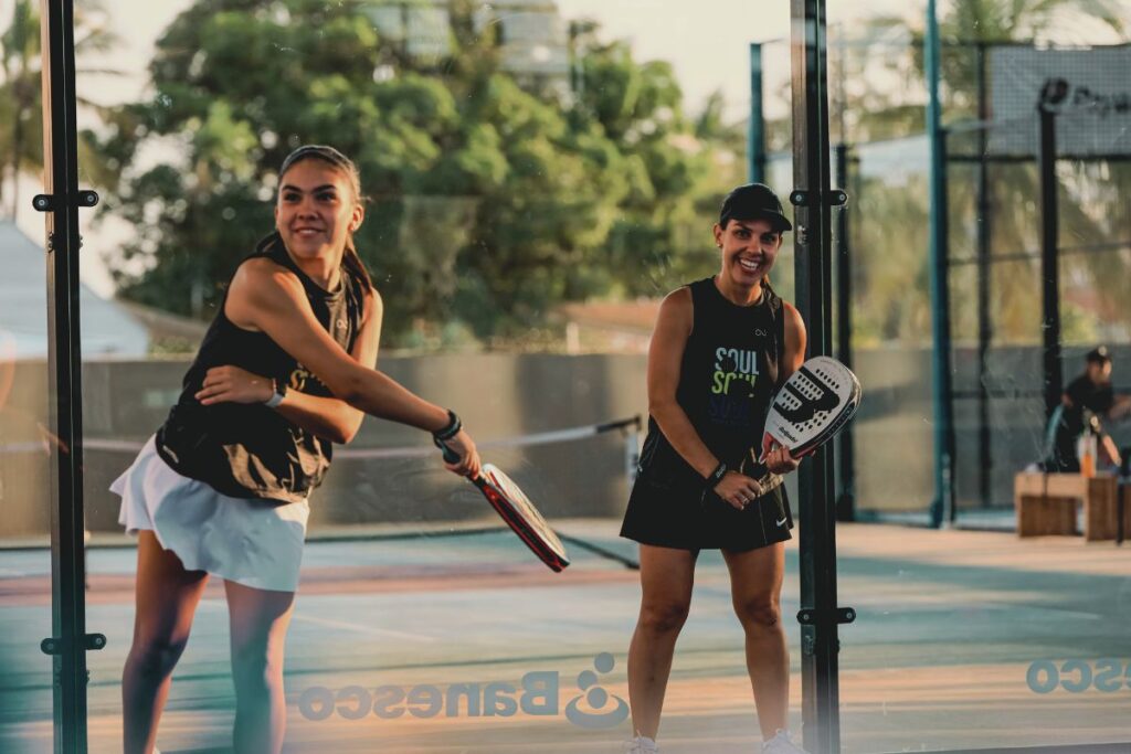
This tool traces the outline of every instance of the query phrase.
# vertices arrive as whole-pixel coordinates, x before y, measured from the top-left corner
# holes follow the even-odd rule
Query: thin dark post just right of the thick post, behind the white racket
[[[848,145],[841,142],[835,146],[832,156],[837,168],[837,185],[847,190],[849,184]],[[852,244],[848,235],[847,205],[840,207],[837,213],[836,224],[834,253],[837,268],[837,358],[845,366],[852,369]],[[852,521],[856,518],[856,468],[852,423],[837,436],[837,461],[840,469],[837,520]]]

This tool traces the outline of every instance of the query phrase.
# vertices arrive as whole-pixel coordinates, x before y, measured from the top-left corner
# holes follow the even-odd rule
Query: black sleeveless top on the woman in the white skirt
[[[364,284],[346,266],[337,289],[327,292],[311,280],[273,234],[248,259],[266,257],[294,272],[314,317],[346,352],[353,349],[365,298]],[[247,260],[244,260],[247,261]],[[264,332],[235,326],[221,303],[196,359],[184,375],[183,390],[165,424],[157,431],[157,452],[179,474],[207,483],[232,497],[279,502],[304,500],[330,466],[329,441],[257,404],[201,406],[193,395],[214,366],[232,365],[273,378],[288,390],[331,396],[329,389]]]

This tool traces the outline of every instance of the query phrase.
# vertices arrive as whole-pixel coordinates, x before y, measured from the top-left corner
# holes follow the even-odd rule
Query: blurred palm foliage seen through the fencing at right
[[[1000,43],[1081,44],[1081,20],[1128,38],[1131,11],[1122,0],[953,0],[940,5],[943,113],[948,154],[979,154],[978,55]],[[830,31],[830,127],[834,142],[855,145],[852,244],[854,339],[858,345],[931,341],[923,19],[875,17]],[[988,52],[986,52],[988,66]],[[988,81],[986,83],[988,86]],[[770,124],[775,147],[788,144],[788,123]],[[998,128],[1033,128],[1011,123]],[[949,253],[973,260],[982,224],[990,253],[1016,258],[993,265],[990,321],[995,345],[1041,343],[1039,175],[1035,163],[987,166],[988,214],[976,203],[977,166],[948,164]],[[1062,161],[1059,166],[1062,248],[1061,310],[1065,343],[1131,338],[1131,164]],[[1122,244],[1122,248],[1120,248]],[[1091,249],[1080,252],[1081,248]],[[977,341],[977,268],[951,267],[952,335]]]

